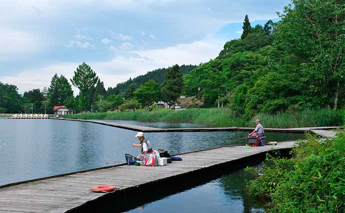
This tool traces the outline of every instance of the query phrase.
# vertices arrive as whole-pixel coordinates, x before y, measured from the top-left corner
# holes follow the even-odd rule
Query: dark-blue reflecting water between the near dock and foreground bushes
[[[244,171],[238,171],[127,213],[263,213],[263,204],[245,192],[244,180],[251,179]]]

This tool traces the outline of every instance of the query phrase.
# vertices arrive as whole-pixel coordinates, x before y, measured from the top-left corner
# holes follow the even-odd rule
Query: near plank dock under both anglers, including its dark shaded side
[[[135,197],[141,201],[144,194],[153,192],[154,189],[161,190],[164,185],[179,186],[188,180],[194,181],[220,170],[229,172],[256,165],[272,148],[288,151],[293,144],[294,141],[251,148],[226,146],[178,154],[175,156],[183,160],[173,161],[166,166],[122,164],[7,184],[0,186],[0,212],[97,212],[100,208],[120,212],[125,210],[120,205],[126,205]],[[112,185],[117,190],[107,194],[90,191],[90,188],[99,185]]]

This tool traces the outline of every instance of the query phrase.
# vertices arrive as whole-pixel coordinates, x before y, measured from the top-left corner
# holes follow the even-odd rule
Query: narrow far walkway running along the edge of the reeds
[[[254,129],[254,127],[217,127],[217,128],[209,127],[209,128],[161,129],[161,128],[154,128],[154,127],[137,126],[137,125],[131,125],[131,124],[95,121],[95,120],[65,119],[65,118],[59,118],[56,120],[89,122],[89,123],[101,124],[101,125],[112,126],[112,127],[139,131],[139,132],[226,132],[226,131],[248,131],[248,132],[250,131],[251,132]],[[303,132],[308,132],[310,130],[331,130],[331,129],[342,129],[342,128],[343,127],[264,128],[264,131],[265,132],[303,133]]]

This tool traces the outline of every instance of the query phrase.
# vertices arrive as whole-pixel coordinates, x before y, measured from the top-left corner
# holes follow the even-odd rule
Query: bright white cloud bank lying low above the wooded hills
[[[168,67],[173,64],[207,62],[210,58],[218,55],[223,43],[224,41],[201,40],[162,49],[130,51],[128,55],[117,55],[110,61],[89,61],[86,63],[104,82],[105,88],[114,87],[117,83],[128,80],[129,77],[133,78],[153,69]],[[112,45],[111,47],[114,50],[119,50]],[[132,46],[129,42],[124,42],[120,48],[132,48]],[[80,63],[58,63],[41,68],[26,69],[14,75],[0,77],[0,81],[16,85],[18,91],[23,93],[33,88],[48,87],[51,77],[55,73],[70,79],[73,71]],[[76,95],[78,90],[74,87],[72,89]]]

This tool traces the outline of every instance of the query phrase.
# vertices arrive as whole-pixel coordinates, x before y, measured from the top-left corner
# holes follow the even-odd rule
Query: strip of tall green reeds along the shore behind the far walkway
[[[265,127],[292,128],[312,126],[339,126],[344,123],[344,116],[340,111],[333,110],[304,110],[293,113],[258,114],[250,119],[235,116],[227,108],[186,109],[186,110],[157,110],[137,112],[104,112],[79,113],[68,115],[73,119],[97,120],[134,120],[151,122],[176,122],[211,124],[216,127],[253,127],[254,120],[260,119]]]

